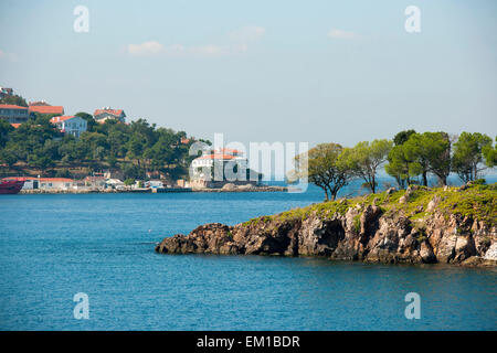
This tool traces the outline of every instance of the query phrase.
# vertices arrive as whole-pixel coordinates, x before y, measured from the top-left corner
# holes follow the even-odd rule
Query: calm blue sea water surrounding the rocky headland
[[[321,200],[289,193],[2,195],[1,330],[496,330],[497,271],[166,256],[167,235]],[[421,320],[404,318],[417,292]],[[89,296],[89,320],[73,296]]]

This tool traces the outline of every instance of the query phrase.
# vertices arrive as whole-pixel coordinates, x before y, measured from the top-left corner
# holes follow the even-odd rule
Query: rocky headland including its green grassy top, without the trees
[[[166,237],[161,254],[319,256],[497,266],[497,188],[410,186]]]

